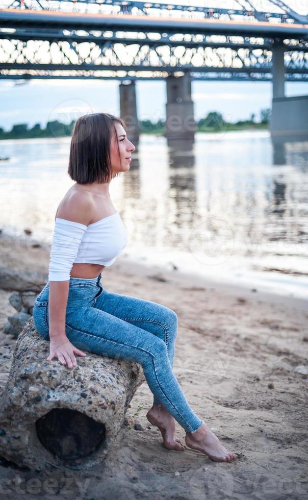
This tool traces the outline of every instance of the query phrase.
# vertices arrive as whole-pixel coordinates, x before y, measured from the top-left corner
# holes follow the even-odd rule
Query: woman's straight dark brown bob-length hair
[[[109,113],[93,113],[76,120],[72,132],[67,173],[79,184],[106,183],[111,180],[110,143],[115,123],[121,118]],[[119,152],[118,141],[117,148]]]

